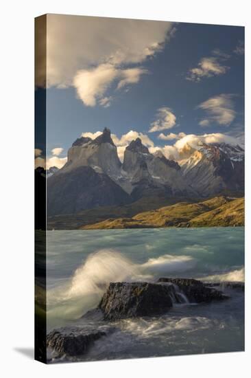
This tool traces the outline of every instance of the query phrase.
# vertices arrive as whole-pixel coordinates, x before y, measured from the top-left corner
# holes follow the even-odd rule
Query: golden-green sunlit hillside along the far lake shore
[[[140,212],[132,217],[106,219],[84,230],[145,227],[212,227],[244,225],[244,199],[214,197],[198,203],[188,201]]]

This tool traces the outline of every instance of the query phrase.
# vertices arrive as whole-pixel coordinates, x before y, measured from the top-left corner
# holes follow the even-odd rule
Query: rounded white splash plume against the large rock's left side
[[[70,280],[47,291],[48,318],[52,324],[57,318],[80,318],[97,307],[110,282],[143,279],[151,279],[151,276],[142,276],[139,265],[115,250],[101,249],[89,255]]]

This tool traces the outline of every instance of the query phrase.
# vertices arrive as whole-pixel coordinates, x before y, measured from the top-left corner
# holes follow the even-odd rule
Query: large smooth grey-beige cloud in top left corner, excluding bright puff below
[[[72,85],[76,72],[142,63],[173,35],[163,21],[47,15],[47,85]],[[41,83],[43,85],[43,83]]]

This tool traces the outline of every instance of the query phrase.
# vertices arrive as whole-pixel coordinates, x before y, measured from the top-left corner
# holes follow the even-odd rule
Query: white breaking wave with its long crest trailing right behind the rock
[[[50,318],[79,318],[97,306],[110,282],[151,281],[160,274],[176,274],[195,265],[191,256],[164,255],[136,264],[113,249],[101,249],[88,256],[72,278],[47,291]]]

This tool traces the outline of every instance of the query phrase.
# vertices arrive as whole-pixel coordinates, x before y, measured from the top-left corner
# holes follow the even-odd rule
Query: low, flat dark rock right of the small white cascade
[[[212,300],[227,299],[222,291],[209,287],[200,280],[193,278],[159,278],[158,282],[171,282],[177,285],[180,290],[187,296],[190,302],[211,302]]]

